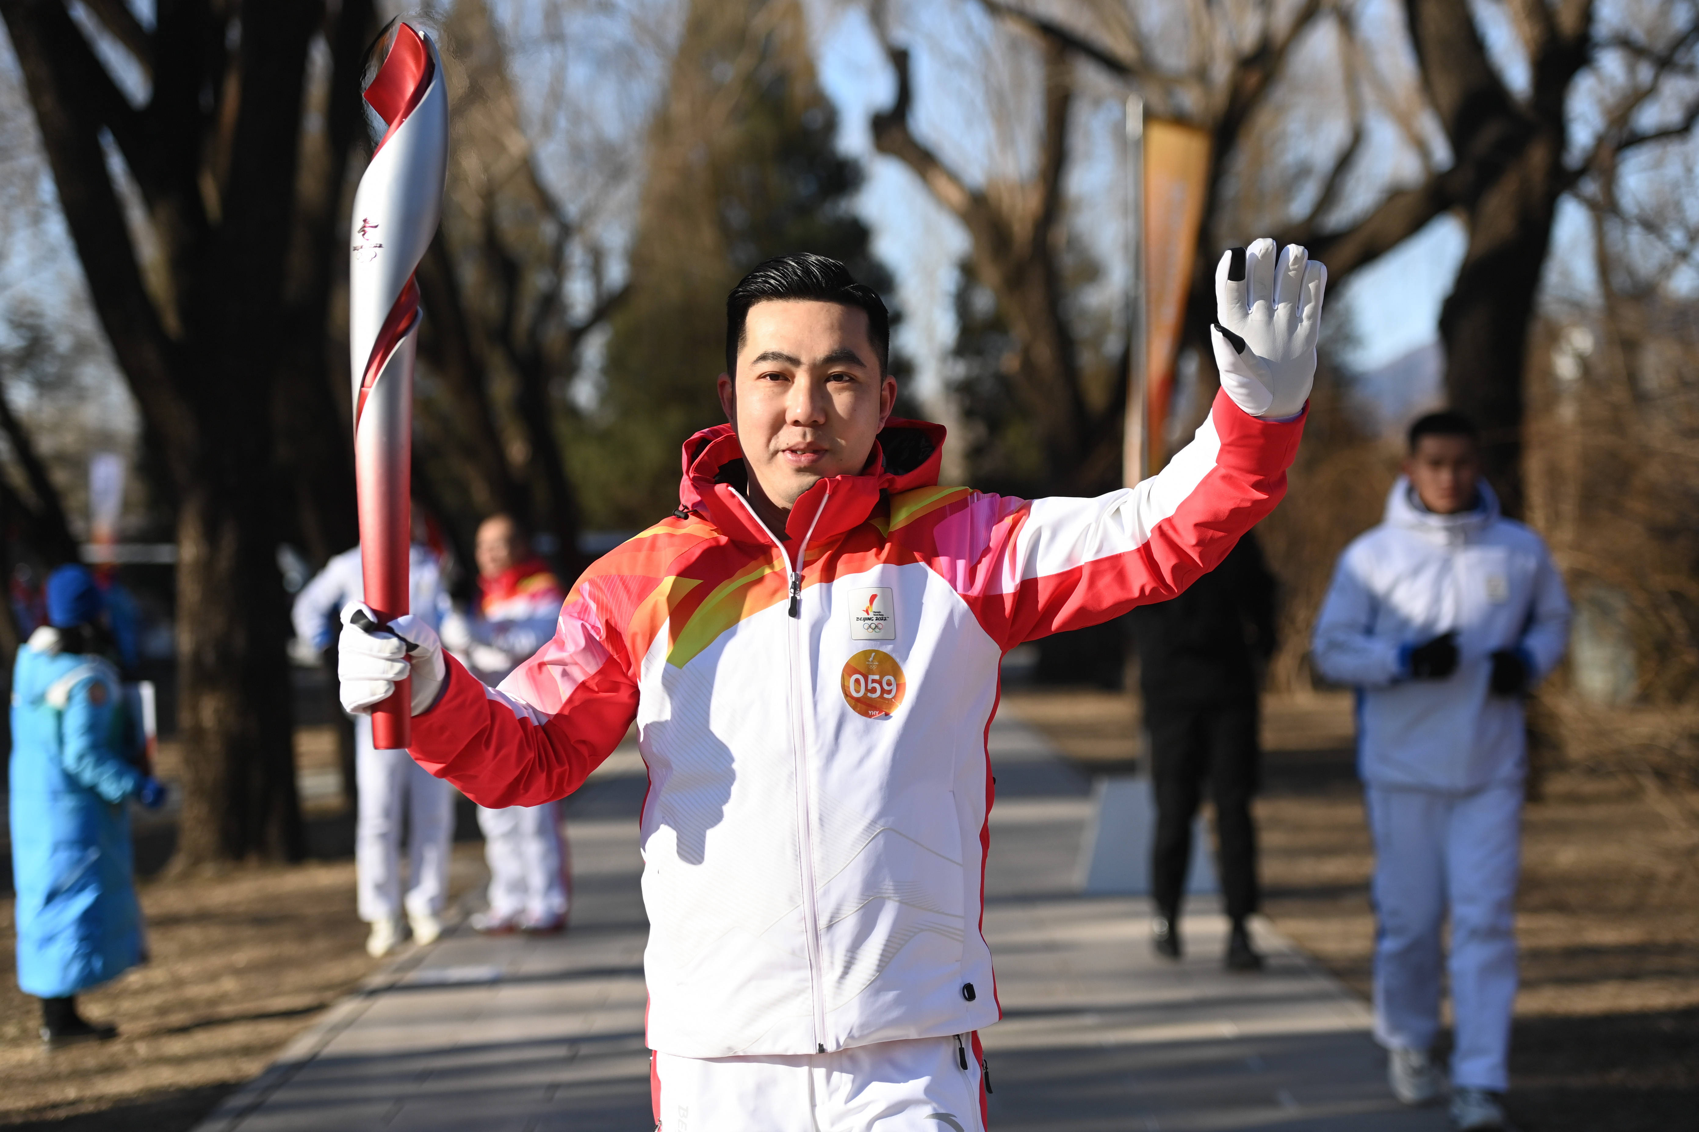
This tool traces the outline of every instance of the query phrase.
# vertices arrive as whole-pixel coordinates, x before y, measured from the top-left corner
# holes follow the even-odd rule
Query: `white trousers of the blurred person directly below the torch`
[[[432,777],[404,750],[372,748],[372,716],[353,716],[353,772],[360,813],[353,871],[360,918],[394,920],[442,911],[449,898],[454,787]],[[404,815],[404,818],[403,818]],[[408,888],[401,894],[401,828],[408,827]]]

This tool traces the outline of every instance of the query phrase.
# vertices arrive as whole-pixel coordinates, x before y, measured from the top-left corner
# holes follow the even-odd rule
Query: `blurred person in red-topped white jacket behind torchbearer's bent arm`
[[[443,647],[494,687],[554,636],[566,591],[510,514],[477,524],[477,599],[442,626]],[[477,808],[489,866],[489,908],[472,915],[486,935],[566,930],[571,857],[561,835],[561,803]]]

